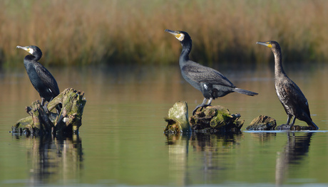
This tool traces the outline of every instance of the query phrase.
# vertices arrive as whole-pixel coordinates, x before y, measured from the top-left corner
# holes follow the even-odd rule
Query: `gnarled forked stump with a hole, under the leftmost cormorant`
[[[20,119],[13,127],[12,133],[20,134],[76,134],[82,124],[83,108],[86,100],[84,93],[73,88],[67,88],[57,97],[48,102],[46,109],[41,106],[39,100],[26,107],[30,115]],[[59,114],[51,110],[60,108]],[[48,111],[46,111],[48,110]]]

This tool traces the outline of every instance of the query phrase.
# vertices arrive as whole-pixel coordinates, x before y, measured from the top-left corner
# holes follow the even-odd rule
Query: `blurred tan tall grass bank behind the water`
[[[39,46],[43,63],[177,63],[180,43],[165,28],[193,38],[200,63],[267,62],[257,41],[278,41],[285,60],[328,59],[328,1],[18,1],[0,2],[0,59],[9,65]]]

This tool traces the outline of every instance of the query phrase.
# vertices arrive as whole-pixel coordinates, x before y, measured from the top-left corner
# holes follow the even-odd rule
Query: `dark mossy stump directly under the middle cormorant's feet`
[[[199,107],[189,117],[189,123],[194,132],[240,132],[244,124],[240,117],[240,114],[230,114],[226,107],[207,106]]]

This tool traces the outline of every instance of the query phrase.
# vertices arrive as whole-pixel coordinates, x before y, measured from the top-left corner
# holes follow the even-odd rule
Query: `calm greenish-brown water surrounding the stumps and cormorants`
[[[23,65],[22,65],[23,66]],[[256,97],[232,93],[212,102],[245,120],[239,134],[163,134],[168,109],[203,101],[178,65],[48,68],[59,88],[85,92],[80,134],[31,138],[9,133],[39,95],[24,68],[0,70],[0,186],[328,186],[328,66],[290,65],[318,132],[247,132],[260,114],[287,116],[272,66],[220,71]],[[297,120],[296,124],[306,125]]]

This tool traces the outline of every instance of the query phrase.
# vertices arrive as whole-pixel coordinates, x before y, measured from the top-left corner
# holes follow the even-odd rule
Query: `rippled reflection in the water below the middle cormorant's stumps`
[[[165,136],[167,137],[166,143],[168,144],[169,170],[180,171],[178,173],[170,172],[169,177],[176,178],[176,181],[179,181],[178,186],[185,186],[190,181],[193,181],[193,178],[190,178],[193,174],[188,169],[189,146],[193,147],[193,151],[200,152],[200,154],[204,155],[202,156],[203,175],[217,178],[216,171],[225,169],[225,163],[217,161],[217,156],[225,156],[225,153],[234,149],[243,139],[242,132],[225,132],[222,134],[165,134]]]

